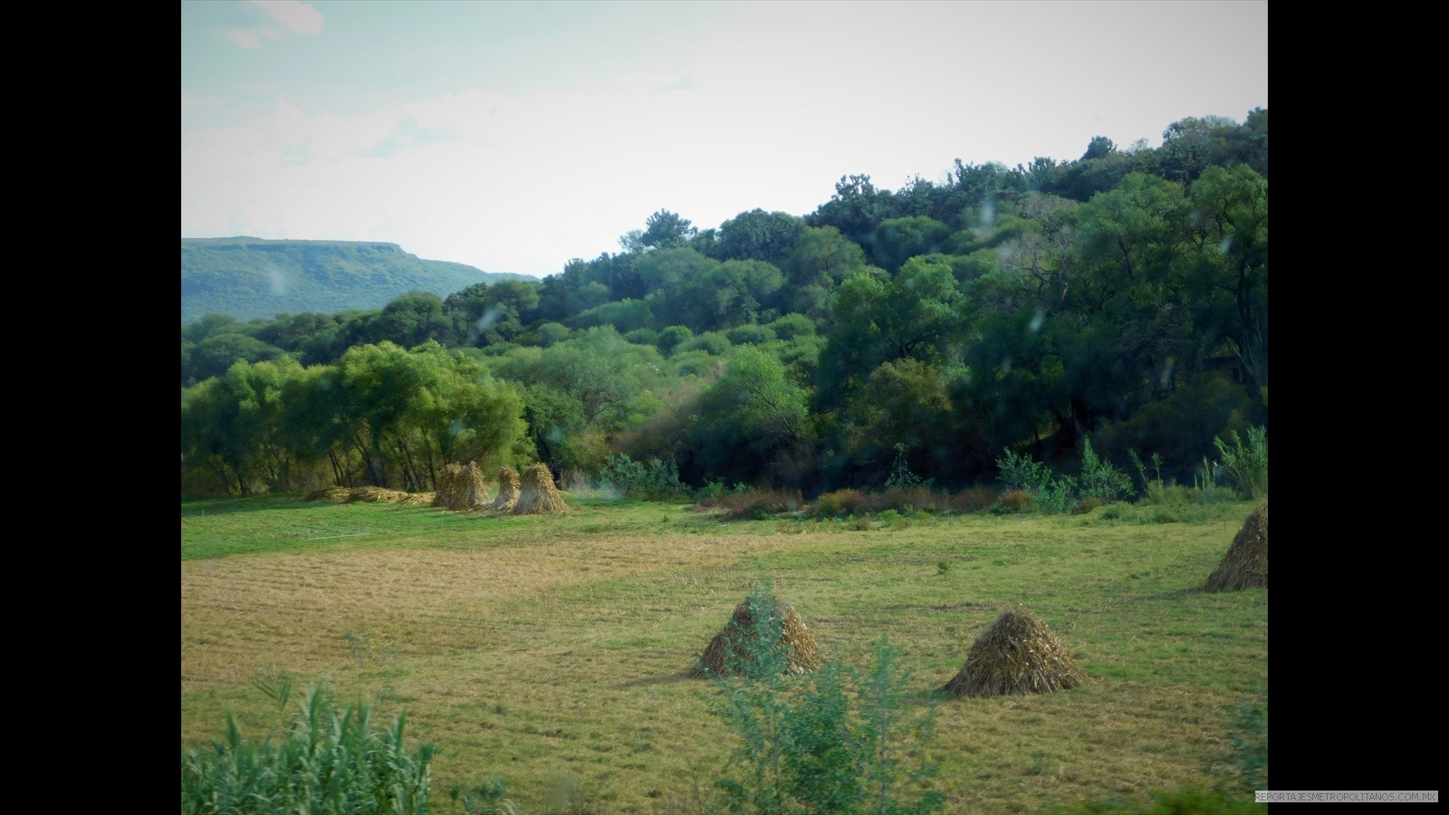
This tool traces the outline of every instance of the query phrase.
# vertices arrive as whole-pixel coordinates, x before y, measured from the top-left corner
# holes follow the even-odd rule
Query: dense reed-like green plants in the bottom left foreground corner
[[[223,740],[181,756],[181,812],[425,815],[436,748],[404,750],[404,718],[380,728],[369,713],[367,705],[339,712],[313,690],[285,737],[259,744],[227,715]]]

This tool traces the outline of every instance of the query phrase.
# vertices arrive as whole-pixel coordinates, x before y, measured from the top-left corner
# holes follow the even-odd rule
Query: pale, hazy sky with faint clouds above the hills
[[[1266,0],[183,0],[181,236],[543,277],[1268,107]]]

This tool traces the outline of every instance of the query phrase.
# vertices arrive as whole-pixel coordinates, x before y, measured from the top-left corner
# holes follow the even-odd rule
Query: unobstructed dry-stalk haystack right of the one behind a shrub
[[[1071,653],[1040,618],[1016,608],[977,638],[966,664],[942,690],[955,696],[1051,693],[1087,683]]]

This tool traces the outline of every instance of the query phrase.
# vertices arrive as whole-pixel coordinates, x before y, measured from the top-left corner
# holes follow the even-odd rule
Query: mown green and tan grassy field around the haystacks
[[[1266,590],[1194,592],[1250,503],[1085,515],[724,522],[682,503],[567,516],[285,497],[181,505],[181,744],[284,715],[285,674],[442,747],[433,799],[501,777],[522,812],[697,812],[732,734],[685,671],[761,577],[826,657],[887,635],[935,709],[951,812],[1037,812],[1227,771],[1266,692]],[[1024,605],[1090,684],[946,699],[975,638]]]

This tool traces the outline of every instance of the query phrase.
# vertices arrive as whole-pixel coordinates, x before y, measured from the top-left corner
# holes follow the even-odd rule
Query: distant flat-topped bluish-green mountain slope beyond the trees
[[[409,291],[446,297],[475,283],[536,280],[427,261],[397,244],[181,239],[181,325],[209,313],[248,320],[278,313],[381,309]]]

